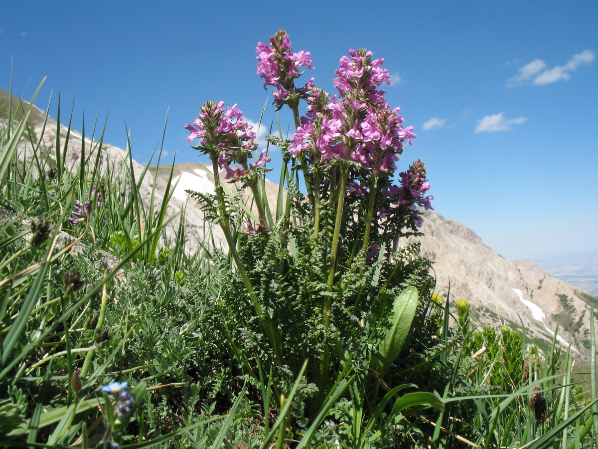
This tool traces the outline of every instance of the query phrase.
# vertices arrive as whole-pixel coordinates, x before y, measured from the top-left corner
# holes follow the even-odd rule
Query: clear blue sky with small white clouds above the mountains
[[[436,210],[510,259],[597,253],[598,2],[368,3],[0,0],[0,88],[11,61],[17,95],[47,76],[39,107],[60,91],[87,133],[107,116],[105,142],[124,148],[128,130],[138,162],[169,110],[167,157],[197,162],[184,125],[205,101],[254,122],[267,101],[263,123],[275,117],[258,41],[286,29],[329,92],[340,57],[368,48],[415,127],[402,163],[428,165]]]

